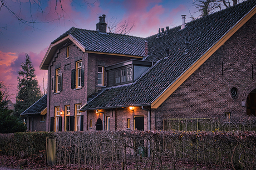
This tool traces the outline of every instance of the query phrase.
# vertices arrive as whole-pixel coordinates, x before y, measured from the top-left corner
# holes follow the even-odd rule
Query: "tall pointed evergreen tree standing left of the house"
[[[23,111],[42,97],[38,81],[36,80],[35,69],[28,54],[26,54],[25,62],[21,63],[21,68],[18,71],[17,78],[19,83],[16,104],[14,105],[15,116],[21,115]]]

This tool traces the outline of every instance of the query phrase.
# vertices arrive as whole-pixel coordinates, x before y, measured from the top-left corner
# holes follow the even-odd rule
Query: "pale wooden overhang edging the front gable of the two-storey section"
[[[73,42],[79,49],[81,49],[85,53],[85,47],[83,47],[83,45],[80,42],[78,42],[78,40],[75,37],[73,37],[72,35],[67,35],[67,37],[62,38],[58,42],[50,45],[45,54],[45,57],[43,58],[39,66],[41,70],[48,69],[48,66],[51,63],[51,60],[56,53],[56,50],[62,47],[63,44],[67,43],[68,40],[71,40],[71,42]]]

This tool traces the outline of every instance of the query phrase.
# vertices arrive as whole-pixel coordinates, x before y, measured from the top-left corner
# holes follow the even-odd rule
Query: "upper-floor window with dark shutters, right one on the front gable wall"
[[[71,70],[71,89],[81,88],[85,81],[85,67],[82,60],[76,62],[76,69]]]

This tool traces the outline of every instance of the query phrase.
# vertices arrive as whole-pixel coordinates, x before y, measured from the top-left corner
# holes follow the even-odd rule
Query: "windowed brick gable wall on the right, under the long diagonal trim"
[[[247,96],[256,88],[255,23],[256,16],[210,56],[159,108],[152,110],[156,115],[156,129],[163,129],[163,119],[168,118],[224,117],[224,112],[230,112],[233,117],[246,115]],[[230,93],[232,87],[238,89],[235,98]]]

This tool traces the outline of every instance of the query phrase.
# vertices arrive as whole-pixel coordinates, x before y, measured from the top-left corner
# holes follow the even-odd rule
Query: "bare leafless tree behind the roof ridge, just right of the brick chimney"
[[[124,34],[129,35],[134,28],[134,23],[129,24],[129,20],[124,20],[121,22],[117,21],[117,18],[111,17],[110,20],[107,20],[107,29],[109,33]]]

